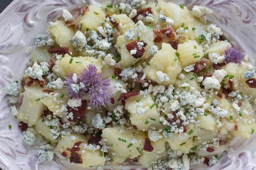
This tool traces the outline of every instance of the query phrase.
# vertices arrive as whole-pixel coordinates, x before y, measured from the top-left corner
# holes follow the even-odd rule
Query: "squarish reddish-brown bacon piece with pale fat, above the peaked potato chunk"
[[[176,33],[171,26],[163,28],[161,30],[154,29],[154,42],[169,43],[177,39]]]

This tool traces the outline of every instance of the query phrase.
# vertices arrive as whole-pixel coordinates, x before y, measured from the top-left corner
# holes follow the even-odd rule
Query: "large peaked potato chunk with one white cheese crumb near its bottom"
[[[164,86],[174,84],[177,75],[182,70],[179,59],[174,61],[176,58],[175,52],[176,50],[174,50],[170,44],[163,43],[162,49],[159,50],[150,60],[150,65],[143,69],[146,76]],[[169,81],[160,81],[156,74],[157,71],[165,73],[168,76]]]

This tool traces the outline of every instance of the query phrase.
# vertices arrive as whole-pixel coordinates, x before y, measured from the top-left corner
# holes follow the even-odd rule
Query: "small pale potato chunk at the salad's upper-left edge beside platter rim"
[[[34,61],[37,61],[38,64],[41,62],[49,62],[50,58],[52,57],[52,54],[48,52],[48,49],[46,46],[36,48],[32,54],[31,54],[31,62],[34,63]]]

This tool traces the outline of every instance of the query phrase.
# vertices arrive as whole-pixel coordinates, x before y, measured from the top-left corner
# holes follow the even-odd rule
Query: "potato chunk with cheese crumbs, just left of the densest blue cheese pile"
[[[139,103],[136,100],[141,100],[140,102],[144,103],[145,105],[140,107],[139,105],[137,105]],[[125,102],[125,109],[127,109],[128,112],[130,112],[131,114],[131,124],[137,126],[139,130],[145,131],[149,131],[152,126],[155,126],[157,128],[163,127],[163,125],[159,123],[160,115],[158,115],[157,106],[155,105],[154,107],[152,107],[152,109],[150,109],[150,106],[152,106],[153,103],[155,103],[155,101],[152,98],[151,94],[146,95],[146,98],[144,98],[143,95],[132,96],[128,98]],[[140,108],[145,109],[144,115],[136,113],[140,110]],[[155,121],[150,120],[149,123],[145,124],[148,118],[155,119]]]

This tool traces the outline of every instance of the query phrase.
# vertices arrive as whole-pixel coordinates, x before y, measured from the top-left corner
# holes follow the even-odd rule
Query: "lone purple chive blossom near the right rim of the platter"
[[[236,63],[240,64],[241,61],[243,60],[243,52],[242,50],[239,50],[239,47],[234,45],[233,47],[229,48],[227,47],[227,50],[225,50],[225,60],[223,63],[228,64],[228,63]]]

